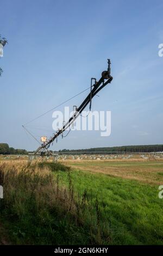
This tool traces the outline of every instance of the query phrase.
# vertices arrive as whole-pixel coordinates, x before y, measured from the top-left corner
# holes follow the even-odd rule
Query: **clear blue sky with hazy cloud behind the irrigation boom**
[[[163,143],[162,1],[7,0],[0,6],[0,34],[9,41],[0,60],[0,142],[37,148],[21,125],[89,87],[110,58],[114,80],[93,99],[92,111],[111,111],[111,135],[74,131],[53,149]],[[52,130],[52,121],[51,112],[31,125]]]

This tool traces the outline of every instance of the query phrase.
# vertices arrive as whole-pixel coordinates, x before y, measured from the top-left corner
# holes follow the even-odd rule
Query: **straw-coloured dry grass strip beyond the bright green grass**
[[[147,160],[105,160],[105,161],[66,161],[66,164],[79,170],[109,174],[123,179],[133,179],[149,184],[162,182],[163,161]]]

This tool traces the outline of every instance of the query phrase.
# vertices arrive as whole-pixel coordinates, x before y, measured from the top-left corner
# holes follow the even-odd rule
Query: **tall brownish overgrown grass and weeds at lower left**
[[[60,164],[51,166],[53,170],[56,166],[64,169]],[[8,230],[11,243],[82,245],[91,241],[89,226],[79,224],[70,211],[71,193],[62,191],[51,174],[42,176],[35,172],[37,166],[24,166],[18,173],[16,169],[4,171],[4,168],[8,166],[0,167],[0,182],[4,186],[0,222]],[[42,167],[41,172],[43,170]]]

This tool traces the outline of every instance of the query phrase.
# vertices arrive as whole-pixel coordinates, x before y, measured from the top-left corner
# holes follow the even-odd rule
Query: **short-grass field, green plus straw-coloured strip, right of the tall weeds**
[[[68,164],[68,162],[67,162]],[[69,162],[75,190],[98,197],[113,243],[163,244],[163,162]],[[91,173],[90,173],[91,172]],[[65,173],[60,173],[66,182]]]

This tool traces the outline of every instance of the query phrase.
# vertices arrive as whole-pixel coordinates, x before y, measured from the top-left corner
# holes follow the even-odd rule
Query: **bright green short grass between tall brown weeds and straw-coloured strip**
[[[67,184],[66,173],[59,175]],[[102,218],[111,225],[112,243],[163,244],[163,200],[158,198],[158,186],[78,170],[71,176],[80,196],[86,188],[88,196],[98,197]]]

